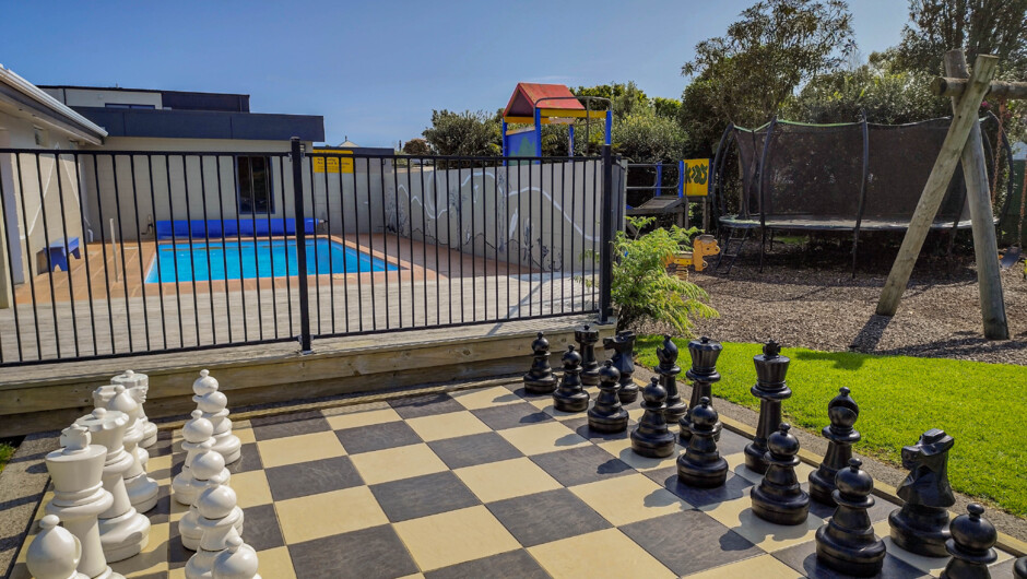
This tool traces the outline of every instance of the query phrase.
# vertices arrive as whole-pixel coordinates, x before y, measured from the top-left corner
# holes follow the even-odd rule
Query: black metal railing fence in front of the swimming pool
[[[0,149],[0,366],[611,316],[625,165]]]

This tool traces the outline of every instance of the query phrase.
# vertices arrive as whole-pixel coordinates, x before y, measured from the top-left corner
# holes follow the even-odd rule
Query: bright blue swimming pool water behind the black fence
[[[330,239],[307,239],[307,273],[396,271],[391,263]],[[157,246],[146,283],[249,280],[296,275],[295,239],[208,241]],[[287,272],[287,273],[286,273]]]

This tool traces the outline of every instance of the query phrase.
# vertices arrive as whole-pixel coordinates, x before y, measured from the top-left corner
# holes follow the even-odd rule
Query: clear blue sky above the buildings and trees
[[[255,113],[323,115],[331,144],[389,146],[520,81],[680,97],[695,44],[752,3],[4,0],[0,62],[35,84],[246,93]],[[905,0],[849,3],[862,54],[898,43]]]

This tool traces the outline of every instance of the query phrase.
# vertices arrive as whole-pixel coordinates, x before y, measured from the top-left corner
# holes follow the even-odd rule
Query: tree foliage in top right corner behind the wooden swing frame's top
[[[889,50],[900,70],[943,74],[947,50],[1000,58],[1002,75],[1027,72],[1027,0],[909,0],[902,40]]]

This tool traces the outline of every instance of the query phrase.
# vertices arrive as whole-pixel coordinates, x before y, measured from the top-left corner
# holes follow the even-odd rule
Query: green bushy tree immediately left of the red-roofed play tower
[[[433,110],[424,139],[440,155],[498,156],[503,152],[500,125],[495,116],[479,110]]]

